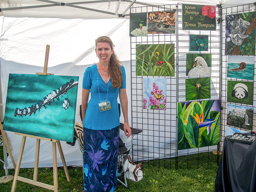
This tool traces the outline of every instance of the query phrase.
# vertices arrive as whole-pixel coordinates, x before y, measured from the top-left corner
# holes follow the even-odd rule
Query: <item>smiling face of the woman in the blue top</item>
[[[99,60],[103,63],[109,62],[111,54],[113,53],[113,49],[111,49],[109,43],[97,43],[97,47],[95,52],[99,58]]]

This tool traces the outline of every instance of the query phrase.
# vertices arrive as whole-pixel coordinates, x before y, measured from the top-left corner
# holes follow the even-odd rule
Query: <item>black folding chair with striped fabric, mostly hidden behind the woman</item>
[[[121,114],[121,108],[120,108],[120,104],[118,103],[118,108],[119,108],[119,116]],[[80,105],[80,117],[81,117],[81,121],[82,120],[82,109],[81,109],[81,105]],[[84,153],[84,148],[83,148],[83,124],[77,123],[75,122],[75,131],[76,131],[76,135],[74,135],[74,138],[76,138],[76,140],[78,140],[79,142],[79,149],[82,152],[82,154]],[[119,124],[119,129],[124,131],[124,124],[120,123]],[[124,162],[127,160],[128,154],[130,152],[130,150],[132,149],[132,142],[133,142],[133,137],[139,133],[142,132],[142,130],[139,129],[133,129],[132,130],[132,139],[131,139],[131,146],[129,148],[125,147],[125,143],[121,140],[121,138],[119,137],[119,146],[118,146],[118,162],[119,165],[122,162],[122,165],[124,165]],[[126,155],[126,156],[125,156]],[[123,158],[125,156],[125,158]],[[122,185],[124,185],[124,187],[129,188],[129,186],[127,185],[127,181],[126,181],[126,177],[124,176],[124,182],[119,180],[117,178],[117,181],[119,181]]]

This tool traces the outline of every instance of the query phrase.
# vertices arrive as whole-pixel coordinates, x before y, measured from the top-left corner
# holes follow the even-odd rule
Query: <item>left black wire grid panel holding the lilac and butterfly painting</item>
[[[131,13],[176,10],[176,4],[131,8]],[[175,76],[136,76],[136,44],[175,44]],[[176,166],[176,35],[148,34],[131,37],[132,127],[142,129],[133,142],[133,161]],[[166,78],[166,110],[143,109],[143,77]],[[163,160],[161,160],[163,159]]]

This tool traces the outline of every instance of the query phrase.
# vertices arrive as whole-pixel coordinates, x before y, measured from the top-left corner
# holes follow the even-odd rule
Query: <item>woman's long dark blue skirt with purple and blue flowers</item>
[[[84,191],[116,191],[118,131],[84,128]]]

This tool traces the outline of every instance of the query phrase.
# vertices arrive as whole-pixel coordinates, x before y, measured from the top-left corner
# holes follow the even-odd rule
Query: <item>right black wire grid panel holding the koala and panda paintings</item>
[[[239,127],[233,127],[227,125],[227,114],[228,114],[228,104],[233,104],[236,106],[243,106],[243,107],[255,107],[256,106],[256,89],[255,89],[255,60],[254,60],[254,55],[250,55],[249,57],[253,57],[254,60],[254,73],[253,73],[253,80],[246,80],[246,79],[238,79],[238,78],[228,78],[227,73],[228,73],[228,56],[230,55],[225,55],[225,40],[226,40],[226,16],[227,15],[233,15],[233,14],[238,14],[238,13],[246,13],[246,12],[255,12],[256,9],[256,4],[244,4],[240,6],[233,6],[233,7],[227,7],[227,8],[222,8],[222,38],[221,38],[221,53],[222,53],[222,72],[221,72],[221,106],[223,107],[222,113],[221,113],[221,130],[220,130],[220,150],[222,150],[223,144],[224,144],[224,139],[226,136],[226,129],[227,127],[231,128],[236,128],[236,129],[241,129]],[[255,31],[254,31],[255,33]],[[255,46],[255,42],[254,42]],[[255,53],[254,53],[255,54]],[[243,55],[244,57],[248,57],[248,55]],[[242,56],[240,56],[242,57]],[[227,102],[227,95],[228,95],[228,81],[233,80],[233,81],[241,81],[242,82],[253,82],[253,105],[246,105],[246,104],[240,104],[240,103],[232,103],[232,102]],[[253,122],[256,119],[255,111],[253,113]],[[255,130],[255,124],[253,125],[253,130]],[[241,129],[243,131],[252,131],[252,130],[246,130],[246,129]]]

